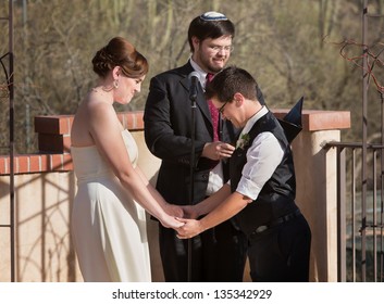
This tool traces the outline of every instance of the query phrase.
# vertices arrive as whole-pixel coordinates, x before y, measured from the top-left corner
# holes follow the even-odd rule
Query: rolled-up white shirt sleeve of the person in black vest
[[[236,191],[255,201],[283,156],[284,150],[272,132],[257,136],[247,151],[247,163],[243,168]]]

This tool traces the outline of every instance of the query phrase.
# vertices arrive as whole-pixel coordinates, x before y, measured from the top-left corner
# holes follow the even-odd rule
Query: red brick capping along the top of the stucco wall
[[[277,118],[283,118],[288,109],[271,110]],[[123,126],[131,131],[144,130],[144,112],[117,114]],[[73,115],[36,116],[35,131],[38,136],[38,153],[14,156],[14,174],[39,172],[67,172],[73,169],[70,154],[71,126]],[[347,111],[302,111],[302,130],[320,131],[350,128],[350,113]],[[10,174],[10,157],[0,156],[0,175]]]

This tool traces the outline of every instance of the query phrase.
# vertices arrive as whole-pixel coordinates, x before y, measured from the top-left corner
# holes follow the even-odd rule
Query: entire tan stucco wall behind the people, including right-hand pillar
[[[138,165],[156,182],[159,160],[147,150],[143,131],[132,132]],[[335,153],[324,142],[339,140],[338,130],[302,131],[293,142],[297,202],[312,230],[311,281],[336,281]],[[15,176],[16,280],[82,281],[70,238],[70,210],[76,186],[72,172]],[[9,223],[9,177],[0,176],[0,223]],[[148,220],[152,280],[163,281],[158,224]],[[0,229],[0,281],[10,281],[9,229]],[[249,281],[248,268],[245,281]]]

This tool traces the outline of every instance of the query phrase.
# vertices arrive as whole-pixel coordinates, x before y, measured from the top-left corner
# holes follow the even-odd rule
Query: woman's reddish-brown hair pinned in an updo
[[[106,78],[115,66],[120,66],[129,78],[139,78],[148,73],[147,59],[122,37],[112,38],[106,47],[97,51],[92,65],[94,72],[101,78]]]

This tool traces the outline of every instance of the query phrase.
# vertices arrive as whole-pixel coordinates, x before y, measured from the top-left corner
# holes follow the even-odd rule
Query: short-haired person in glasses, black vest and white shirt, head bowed
[[[257,83],[234,66],[207,86],[224,119],[243,128],[230,159],[230,181],[197,205],[184,207],[193,218],[177,229],[193,238],[235,217],[247,236],[253,281],[308,281],[311,232],[295,203],[296,180],[289,142],[274,115],[256,94]]]

